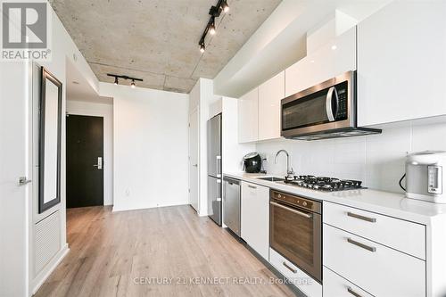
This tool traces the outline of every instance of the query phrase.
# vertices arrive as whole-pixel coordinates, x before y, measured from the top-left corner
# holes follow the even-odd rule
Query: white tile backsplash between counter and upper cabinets
[[[383,128],[383,133],[312,142],[279,139],[256,144],[256,150],[268,161],[268,174],[285,175],[286,158],[278,150],[291,154],[296,174],[359,179],[372,189],[402,192],[398,182],[404,174],[407,153],[425,150],[446,151],[446,124]]]

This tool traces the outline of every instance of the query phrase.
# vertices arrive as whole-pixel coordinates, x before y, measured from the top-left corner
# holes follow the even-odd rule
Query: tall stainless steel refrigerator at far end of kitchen
[[[221,226],[221,113],[208,120],[208,215]]]

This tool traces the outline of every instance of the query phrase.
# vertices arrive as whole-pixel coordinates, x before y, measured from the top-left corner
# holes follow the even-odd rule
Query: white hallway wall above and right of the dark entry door
[[[113,105],[67,100],[69,114],[103,117],[103,205],[113,204]]]

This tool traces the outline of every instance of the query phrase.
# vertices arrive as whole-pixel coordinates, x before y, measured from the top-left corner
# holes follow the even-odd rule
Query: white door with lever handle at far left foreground
[[[0,64],[0,296],[28,296],[29,64]]]

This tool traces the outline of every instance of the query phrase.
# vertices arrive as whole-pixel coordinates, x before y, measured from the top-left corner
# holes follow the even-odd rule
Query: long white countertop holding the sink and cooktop
[[[371,189],[356,189],[339,192],[320,192],[299,186],[289,186],[283,182],[271,182],[256,177],[271,177],[264,174],[244,172],[224,173],[224,176],[244,180],[260,186],[268,186],[289,194],[320,201],[335,202],[361,210],[373,211],[398,219],[407,219],[420,224],[430,225],[435,217],[446,218],[446,204],[423,202],[404,197],[404,194],[376,191]]]

